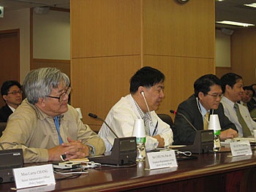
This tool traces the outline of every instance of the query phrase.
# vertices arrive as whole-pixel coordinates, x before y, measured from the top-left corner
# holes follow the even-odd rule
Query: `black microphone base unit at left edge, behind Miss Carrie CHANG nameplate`
[[[13,182],[12,169],[23,167],[21,149],[0,150],[0,183]]]

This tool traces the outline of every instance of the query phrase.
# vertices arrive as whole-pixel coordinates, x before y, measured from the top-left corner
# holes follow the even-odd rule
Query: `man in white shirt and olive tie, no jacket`
[[[236,125],[239,137],[252,136],[252,130],[256,127],[256,123],[252,120],[249,110],[238,101],[241,101],[244,93],[243,80],[238,74],[227,73],[221,78],[222,104],[227,118]]]

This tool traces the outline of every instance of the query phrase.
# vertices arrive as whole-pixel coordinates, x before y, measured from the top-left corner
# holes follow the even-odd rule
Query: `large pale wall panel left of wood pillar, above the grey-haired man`
[[[70,60],[69,12],[33,15],[33,57]]]

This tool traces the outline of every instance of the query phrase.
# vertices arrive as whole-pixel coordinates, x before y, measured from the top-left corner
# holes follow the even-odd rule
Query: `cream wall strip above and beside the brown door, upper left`
[[[30,9],[4,12],[0,18],[0,30],[20,28],[20,82],[30,69]]]

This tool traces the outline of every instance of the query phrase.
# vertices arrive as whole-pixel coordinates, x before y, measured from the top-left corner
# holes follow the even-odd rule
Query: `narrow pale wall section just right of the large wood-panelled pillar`
[[[215,66],[230,67],[230,35],[222,34],[222,31],[216,30],[215,33]]]

